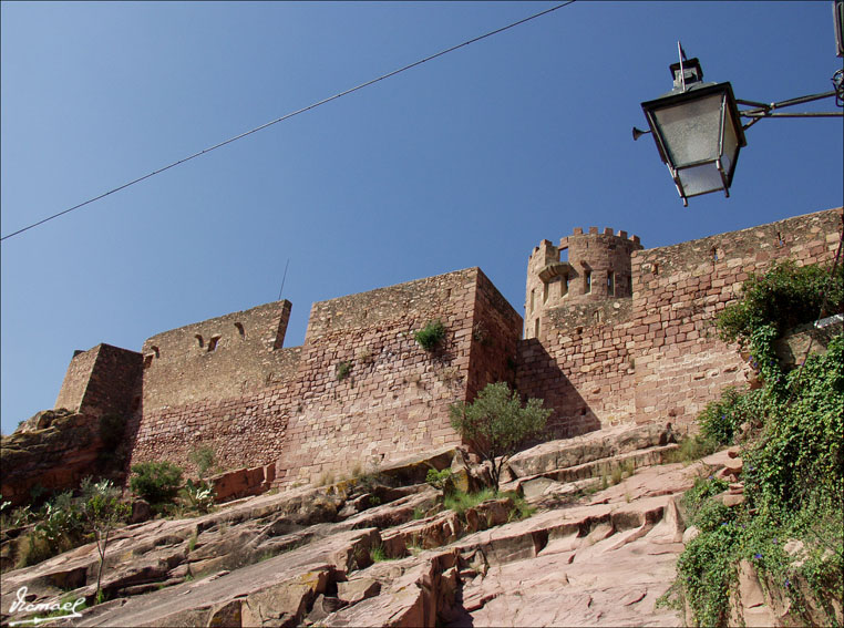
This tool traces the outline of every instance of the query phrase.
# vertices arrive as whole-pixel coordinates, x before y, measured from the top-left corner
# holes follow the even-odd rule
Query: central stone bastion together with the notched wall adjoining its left
[[[280,459],[277,482],[286,485],[456,444],[449,404],[488,381],[507,379],[522,327],[477,268],[315,303],[305,343],[291,349],[272,349],[268,337],[257,333],[277,328],[277,306],[187,326],[144,343],[144,403],[130,429],[132,464],[167,459],[193,470],[191,453],[209,446],[228,469]],[[443,347],[429,353],[413,334],[433,320],[441,320],[447,334]],[[235,321],[244,322],[247,338],[256,329],[251,336],[261,340],[251,351],[257,358],[240,363],[226,357],[231,346],[225,337],[213,352],[199,351],[196,333],[235,329]],[[266,321],[271,325],[258,325]],[[483,342],[473,342],[473,333]],[[243,347],[237,336],[231,342]],[[158,354],[151,358],[155,349]],[[174,354],[176,349],[181,352]],[[222,372],[206,361],[215,353]],[[191,371],[195,363],[203,370]],[[342,379],[341,363],[349,367]],[[203,395],[192,382],[204,373],[213,382],[228,378],[235,383],[247,374],[249,385],[223,381]]]

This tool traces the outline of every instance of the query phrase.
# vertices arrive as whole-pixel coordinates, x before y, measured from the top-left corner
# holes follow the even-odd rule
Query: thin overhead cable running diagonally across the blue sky
[[[235,135],[234,137],[229,137],[228,140],[225,140],[218,144],[215,144],[208,148],[205,148],[203,151],[199,151],[198,153],[194,153],[193,155],[189,155],[187,157],[184,157],[182,159],[178,159],[177,162],[173,162],[172,164],[168,164],[162,168],[158,168],[156,171],[153,171],[148,174],[145,174],[144,176],[137,177],[133,181],[130,181],[128,183],[124,183],[123,185],[115,187],[114,189],[110,189],[109,192],[105,192],[99,196],[94,196],[93,198],[89,198],[88,200],[80,203],[79,205],[74,205],[73,207],[69,207],[68,209],[64,209],[62,212],[59,212],[58,214],[53,214],[52,216],[48,216],[47,218],[43,218],[42,220],[39,220],[38,223],[32,223],[31,225],[28,225],[23,227],[22,229],[18,229],[17,231],[12,231],[11,234],[7,234],[2,237],[0,237],[0,241],[6,240],[8,238],[14,237],[19,234],[22,234],[23,231],[27,231],[29,229],[32,229],[34,227],[38,227],[39,225],[43,225],[44,223],[52,220],[53,218],[58,218],[59,216],[63,216],[65,214],[70,214],[71,212],[75,209],[80,209],[81,207],[84,207],[85,205],[90,205],[91,203],[94,203],[95,200],[100,200],[101,198],[105,198],[106,196],[114,194],[115,192],[120,192],[121,189],[125,189],[132,185],[135,185],[136,183],[141,183],[142,181],[145,181],[150,177],[153,177],[157,174],[161,174],[165,171],[168,171],[171,168],[174,168],[181,164],[184,164],[185,162],[189,162],[191,159],[195,159],[196,157],[199,157],[206,153],[210,153],[212,151],[216,151],[217,148],[222,148],[223,146],[227,144],[231,144],[233,142],[237,142],[238,140],[241,140],[243,137],[246,137],[247,135],[251,135],[253,133],[257,133],[258,131],[263,131],[264,128],[267,128],[269,126],[272,126],[274,124],[278,124],[279,122],[284,122],[285,120],[288,120],[290,117],[294,117],[295,115],[299,115],[300,113],[305,113],[306,111],[310,111],[312,109],[316,109],[320,105],[323,105],[326,103],[330,103],[331,101],[336,101],[337,99],[340,99],[342,96],[346,96],[348,94],[351,94],[352,92],[357,92],[358,90],[362,90],[363,87],[368,87],[370,85],[373,85],[378,83],[379,81],[383,81],[384,79],[389,79],[391,76],[395,76],[397,74],[401,74],[402,72],[406,72],[408,70],[415,68],[416,65],[422,65],[423,63],[426,63],[429,61],[432,61],[436,59],[438,56],[442,56],[443,54],[447,54],[450,52],[454,52],[455,50],[459,50],[461,48],[464,48],[466,45],[473,44],[475,42],[478,42],[483,39],[493,37],[495,34],[502,33],[506,30],[510,30],[512,28],[518,27],[521,24],[524,24],[525,22],[529,22],[531,20],[535,20],[536,18],[541,18],[543,16],[547,16],[548,13],[552,13],[556,11],[557,9],[563,9],[564,7],[568,7],[569,4],[573,4],[575,0],[567,0],[566,2],[563,2],[560,4],[556,4],[555,7],[552,7],[550,9],[546,9],[545,11],[539,11],[538,13],[534,13],[533,16],[529,16],[527,18],[524,18],[522,20],[518,20],[517,22],[513,22],[507,24],[506,27],[502,27],[500,29],[495,29],[494,31],[490,31],[487,33],[484,33],[482,35],[478,35],[476,38],[470,39],[467,41],[464,41],[463,43],[459,43],[457,45],[452,45],[451,48],[446,48],[445,50],[442,50],[435,54],[431,54],[430,56],[425,56],[424,59],[420,59],[419,61],[414,61],[413,63],[409,65],[404,65],[403,68],[399,68],[398,70],[393,70],[392,72],[388,72],[387,74],[382,74],[381,76],[378,76],[377,79],[372,79],[370,81],[367,81],[366,83],[361,83],[360,85],[356,85],[354,87],[350,87],[346,90],[344,92],[337,93],[332,96],[329,96],[327,99],[323,99],[321,101],[318,101],[316,103],[309,104],[308,106],[305,106],[300,110],[294,111],[291,113],[285,114],[281,117],[277,117],[276,120],[271,120],[270,122],[267,122],[265,124],[261,124],[260,126],[256,126],[255,128],[250,131],[246,131],[244,133],[240,133],[239,135]]]

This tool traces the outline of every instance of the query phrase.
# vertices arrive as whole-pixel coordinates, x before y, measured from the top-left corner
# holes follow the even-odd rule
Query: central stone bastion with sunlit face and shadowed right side
[[[429,352],[414,333],[434,320],[446,338]],[[277,483],[318,481],[460,444],[449,405],[506,371],[521,322],[477,268],[315,303],[298,374],[302,393]],[[478,361],[490,363],[476,373],[473,330],[481,328],[488,344]],[[344,378],[340,364],[349,366]]]

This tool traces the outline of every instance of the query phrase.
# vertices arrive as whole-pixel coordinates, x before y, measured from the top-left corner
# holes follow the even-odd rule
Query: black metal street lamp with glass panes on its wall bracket
[[[747,146],[744,130],[763,117],[827,117],[842,113],[774,113],[774,110],[837,95],[841,73],[833,78],[835,91],[802,96],[780,103],[737,100],[730,83],[704,83],[698,59],[686,59],[677,43],[680,61],[670,66],[673,89],[658,99],[641,103],[649,131],[634,127],[634,140],[653,134],[659,156],[668,166],[683,206],[692,196],[723,191],[730,196],[739,151]],[[739,104],[752,109],[739,110]],[[742,125],[741,119],[751,121]]]

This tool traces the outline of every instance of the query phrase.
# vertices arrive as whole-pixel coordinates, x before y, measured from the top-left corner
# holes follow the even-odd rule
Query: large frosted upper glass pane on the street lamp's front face
[[[712,94],[653,110],[668,158],[675,167],[718,158],[721,99],[721,94]]]

